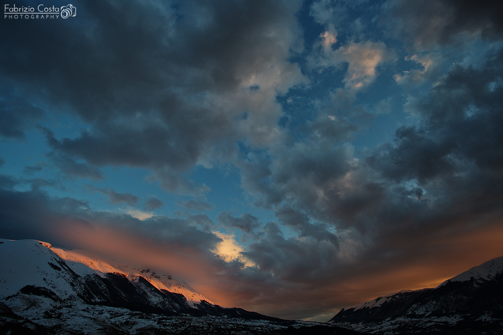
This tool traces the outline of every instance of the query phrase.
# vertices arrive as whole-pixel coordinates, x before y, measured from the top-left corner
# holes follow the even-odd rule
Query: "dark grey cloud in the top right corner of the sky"
[[[497,0],[389,1],[383,5],[391,17],[383,21],[394,34],[426,49],[435,44],[459,43],[468,35],[499,39],[503,36],[500,16],[503,5]],[[389,20],[393,20],[392,22]],[[460,36],[465,34],[465,36]]]

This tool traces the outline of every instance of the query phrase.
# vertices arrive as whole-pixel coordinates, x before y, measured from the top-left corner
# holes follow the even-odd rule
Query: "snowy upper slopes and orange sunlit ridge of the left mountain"
[[[58,290],[60,294],[66,296],[73,292],[71,285],[73,276],[86,278],[97,275],[106,279],[109,274],[113,274],[123,276],[132,283],[138,282],[139,277],[142,277],[161,292],[183,295],[192,308],[197,308],[202,301],[215,305],[186,283],[169,275],[118,265],[81,249],[57,248],[43,241],[30,239],[0,239],[0,241],[4,242],[2,254],[5,256],[0,260],[0,275],[4,278],[6,288],[2,294],[14,294],[26,285],[35,284]],[[13,259],[16,259],[17,266],[13,266]]]

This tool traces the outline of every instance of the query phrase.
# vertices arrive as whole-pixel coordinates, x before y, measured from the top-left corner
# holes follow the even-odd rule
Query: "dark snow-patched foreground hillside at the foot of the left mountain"
[[[360,332],[327,324],[306,321],[260,320],[216,316],[159,315],[106,307],[82,309],[62,307],[43,311],[40,297],[20,297],[32,304],[32,318],[14,313],[0,302],[2,335],[358,335]],[[25,299],[28,298],[28,299]]]

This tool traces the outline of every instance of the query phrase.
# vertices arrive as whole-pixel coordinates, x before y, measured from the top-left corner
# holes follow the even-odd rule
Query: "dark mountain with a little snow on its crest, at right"
[[[371,333],[503,333],[503,257],[436,288],[401,291],[342,309],[328,323]]]

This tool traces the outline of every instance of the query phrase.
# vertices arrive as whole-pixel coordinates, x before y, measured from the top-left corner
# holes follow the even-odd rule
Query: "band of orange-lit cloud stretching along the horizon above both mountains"
[[[54,205],[48,203],[47,207]],[[374,246],[348,233],[340,235],[341,248],[312,237],[284,238],[274,227],[267,226],[263,244],[250,253],[232,235],[218,231],[205,235],[203,239],[214,236],[206,246],[197,244],[197,240],[187,243],[182,236],[162,238],[162,230],[150,221],[155,217],[143,221],[129,217],[129,224],[127,216],[114,216],[111,221],[107,212],[89,212],[87,218],[93,217],[94,222],[71,219],[70,213],[43,212],[42,208],[39,214],[35,221],[38,228],[31,227],[35,233],[43,229],[44,239],[54,246],[63,242],[118,264],[169,274],[222,306],[284,318],[321,320],[327,313],[380,295],[434,287],[503,255],[503,227],[497,217],[479,221],[476,226],[465,225],[464,220],[451,222],[457,230],[435,230],[422,238],[419,231],[403,232],[401,241]],[[40,226],[41,222],[46,223]],[[164,225],[174,224],[170,222]],[[28,222],[23,224],[30,227]],[[359,242],[355,249],[356,240]],[[345,249],[348,247],[351,252]],[[331,263],[325,261],[327,257],[332,258]],[[240,265],[233,264],[234,260]],[[257,266],[243,267],[247,260]]]

